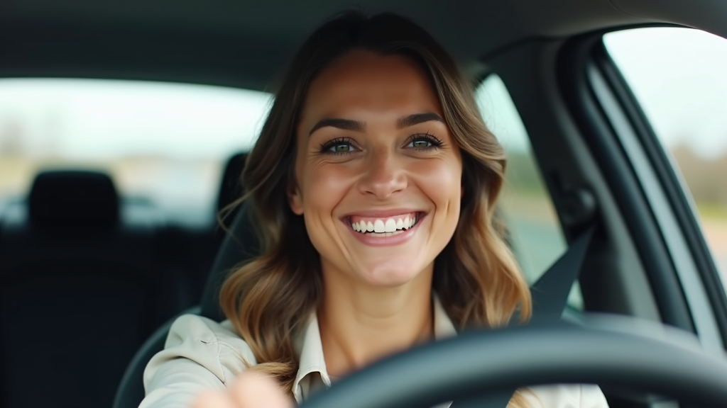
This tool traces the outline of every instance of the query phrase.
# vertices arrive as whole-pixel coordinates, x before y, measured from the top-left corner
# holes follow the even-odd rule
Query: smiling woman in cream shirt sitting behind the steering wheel
[[[529,288],[494,220],[504,173],[473,83],[422,28],[390,14],[326,23],[247,159],[262,255],[222,287],[228,321],[174,322],[142,407],[285,407],[417,344],[527,319]],[[555,385],[510,407],[606,401]]]

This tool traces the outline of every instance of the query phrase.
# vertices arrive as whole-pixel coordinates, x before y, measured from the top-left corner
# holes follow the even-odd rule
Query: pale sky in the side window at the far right
[[[604,38],[667,146],[703,158],[727,153],[727,40],[686,28],[640,28]]]

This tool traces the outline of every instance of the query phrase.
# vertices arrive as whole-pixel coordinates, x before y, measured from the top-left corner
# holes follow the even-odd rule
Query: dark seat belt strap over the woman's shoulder
[[[545,274],[531,286],[530,292],[533,301],[532,319],[539,321],[553,319],[559,320],[568,304],[568,295],[574,282],[581,272],[586,253],[593,240],[595,226],[589,227],[569,246],[566,253],[547,269]],[[517,322],[518,316],[510,319]],[[507,404],[515,391],[507,391],[485,398],[454,401],[450,408],[507,408]]]

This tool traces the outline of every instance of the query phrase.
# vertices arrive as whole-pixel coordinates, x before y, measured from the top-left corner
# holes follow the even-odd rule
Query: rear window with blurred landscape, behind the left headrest
[[[0,205],[44,168],[108,171],[122,197],[213,222],[225,161],[257,137],[270,94],[181,83],[0,79]]]

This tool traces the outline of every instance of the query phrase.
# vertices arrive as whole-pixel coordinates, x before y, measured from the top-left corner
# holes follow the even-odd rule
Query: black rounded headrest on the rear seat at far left
[[[28,197],[33,227],[47,232],[101,232],[119,221],[119,195],[97,171],[43,171]]]

